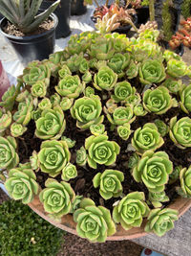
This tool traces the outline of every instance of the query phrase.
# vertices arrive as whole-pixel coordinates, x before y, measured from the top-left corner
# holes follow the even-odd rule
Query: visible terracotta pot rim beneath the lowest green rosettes
[[[32,203],[29,204],[32,210],[42,217],[44,220],[49,221],[54,226],[61,228],[69,233],[77,235],[75,231],[76,223],[73,221],[72,215],[65,215],[62,217],[61,222],[58,223],[53,221],[48,214],[44,211],[43,205],[40,202],[38,197],[35,197],[32,200]],[[186,212],[191,207],[191,199],[189,198],[178,198],[175,202],[171,203],[170,208],[176,209],[179,211],[181,216],[184,212]],[[127,239],[136,239],[142,236],[145,236],[147,233],[144,232],[144,225],[146,221],[143,221],[141,227],[134,227],[128,231],[125,231],[121,225],[117,225],[117,232],[114,236],[108,237],[108,241],[120,241],[120,240],[127,240]]]

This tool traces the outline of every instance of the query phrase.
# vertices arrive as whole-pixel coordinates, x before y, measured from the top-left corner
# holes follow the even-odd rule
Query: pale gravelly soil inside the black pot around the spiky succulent
[[[29,36],[29,35],[40,35],[46,31],[49,31],[53,28],[53,19],[48,18],[42,24],[39,25],[37,30],[33,31],[29,34],[24,34],[21,32],[15,25],[8,22],[7,26],[4,28],[4,32],[8,35],[15,35],[15,36]]]

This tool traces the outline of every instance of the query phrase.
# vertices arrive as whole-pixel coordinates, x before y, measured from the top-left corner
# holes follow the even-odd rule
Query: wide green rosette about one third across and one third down
[[[56,92],[62,97],[77,98],[83,90],[83,83],[81,83],[77,75],[66,75],[55,86]]]

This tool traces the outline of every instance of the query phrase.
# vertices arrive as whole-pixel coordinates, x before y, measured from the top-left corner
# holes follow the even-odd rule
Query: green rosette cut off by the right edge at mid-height
[[[191,147],[191,119],[189,117],[182,117],[177,120],[173,117],[170,120],[169,135],[171,140],[180,149]]]

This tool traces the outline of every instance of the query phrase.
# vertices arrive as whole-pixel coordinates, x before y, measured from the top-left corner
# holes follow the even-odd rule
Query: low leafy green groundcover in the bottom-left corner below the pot
[[[63,231],[41,219],[20,201],[0,205],[0,254],[6,256],[55,256]]]

